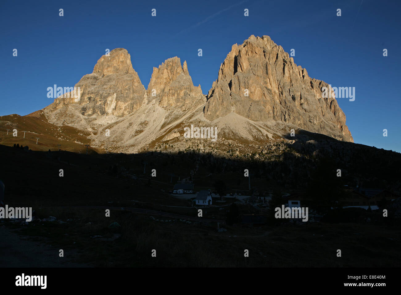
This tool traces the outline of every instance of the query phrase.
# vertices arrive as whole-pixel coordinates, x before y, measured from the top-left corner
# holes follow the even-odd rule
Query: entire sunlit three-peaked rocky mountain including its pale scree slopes
[[[251,35],[231,47],[207,95],[179,57],[154,67],[145,88],[128,51],[116,48],[75,84],[79,97],[63,94],[42,112],[51,124],[89,132],[92,146],[124,153],[198,140],[182,136],[191,124],[217,126],[219,139],[238,142],[285,139],[299,129],[353,142],[336,99],[321,97],[326,85],[269,36]]]

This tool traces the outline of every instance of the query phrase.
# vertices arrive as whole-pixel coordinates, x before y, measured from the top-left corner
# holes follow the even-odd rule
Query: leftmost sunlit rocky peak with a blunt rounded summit
[[[125,116],[142,104],[145,87],[138,73],[132,68],[131,57],[124,48],[103,55],[93,68],[93,73],[84,75],[75,87],[79,98],[64,94],[56,98],[44,111],[55,124],[80,124],[91,115]]]

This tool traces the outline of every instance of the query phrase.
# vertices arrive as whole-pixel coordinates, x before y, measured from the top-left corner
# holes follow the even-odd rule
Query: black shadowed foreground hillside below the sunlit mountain
[[[366,161],[376,160],[378,155],[361,155],[364,157],[361,159],[365,159],[366,167],[379,165]],[[392,155],[399,161],[396,153]],[[279,195],[306,194],[315,188],[314,193],[324,197],[328,194],[325,189],[344,185],[308,168],[317,167],[319,173],[326,173],[328,165],[333,164],[330,159],[313,160],[286,163],[284,157],[269,166],[252,159],[240,161],[198,153],[85,155],[0,146],[0,179],[6,188],[5,203],[32,207],[35,211],[34,220],[28,224],[1,220],[0,232],[11,230],[11,234],[18,234],[24,242],[40,243],[42,252],[48,257],[54,255],[60,267],[399,267],[401,230],[395,216],[383,219],[377,210],[366,213],[365,210],[351,214],[358,214],[358,218],[348,219],[342,218],[345,213],[332,218],[330,212],[326,218],[323,216],[322,222],[271,220],[268,201],[264,202],[263,198],[269,200],[277,191]],[[383,159],[381,165],[385,163]],[[389,163],[389,167],[393,164],[394,161]],[[269,167],[280,169],[277,170],[280,175],[272,170],[268,175],[273,177],[267,177],[264,171]],[[297,185],[299,181],[290,175],[302,167],[312,178],[309,176],[309,182]],[[391,171],[389,167],[387,171]],[[59,176],[60,169],[63,177]],[[151,176],[152,169],[156,169],[156,177]],[[244,169],[251,173],[250,191]],[[376,179],[379,184],[387,183],[382,188],[397,198],[397,190],[392,189],[397,185],[392,181],[393,176],[383,178],[382,170],[372,175],[371,170],[364,174],[362,169],[355,169],[366,177],[365,182]],[[214,197],[212,207],[202,208],[202,218],[207,222],[201,221],[198,218],[201,207],[194,206],[193,198],[177,198],[178,195],[168,193],[178,179],[191,177],[191,170],[195,191],[219,190],[216,183],[223,181],[225,193],[241,193],[251,199],[245,202]],[[352,172],[352,167],[348,171]],[[302,174],[298,177],[304,179]],[[317,185],[320,179],[326,185]],[[234,202],[238,216],[232,218],[229,210],[233,210]],[[110,209],[110,217],[105,217],[105,208]],[[241,216],[249,214],[263,214],[267,222],[253,226],[241,223]],[[14,244],[12,248],[7,240],[0,242],[3,256],[23,253],[27,257],[20,259],[26,265],[13,266],[54,266],[51,258],[35,265],[35,260],[29,257],[37,255],[37,249],[32,247],[30,252],[27,246],[22,251]],[[58,260],[59,249],[64,250],[61,260]],[[338,249],[342,251],[341,257],[336,256]],[[156,257],[152,257],[152,250],[156,250]],[[249,257],[244,257],[244,250],[249,250]]]

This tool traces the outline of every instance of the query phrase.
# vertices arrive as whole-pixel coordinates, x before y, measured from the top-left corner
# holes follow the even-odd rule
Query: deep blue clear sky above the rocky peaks
[[[126,48],[146,88],[153,67],[178,56],[207,94],[231,45],[269,35],[285,51],[295,49],[295,63],[310,77],[356,88],[354,102],[338,99],[356,143],[401,152],[400,7],[367,0],[2,1],[0,115],[51,104],[47,87],[75,85],[106,48]]]

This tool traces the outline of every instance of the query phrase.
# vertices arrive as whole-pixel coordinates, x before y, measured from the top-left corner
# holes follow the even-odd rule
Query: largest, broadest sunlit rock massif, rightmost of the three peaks
[[[205,118],[235,112],[253,121],[282,121],[353,142],[344,113],[335,98],[322,98],[322,87],[328,84],[310,78],[269,36],[252,35],[233,45],[221,65]]]

